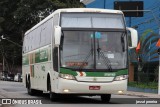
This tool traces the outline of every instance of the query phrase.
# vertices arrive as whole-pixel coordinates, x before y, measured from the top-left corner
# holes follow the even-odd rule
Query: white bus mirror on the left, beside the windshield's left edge
[[[55,45],[59,46],[60,40],[61,40],[61,27],[60,26],[54,27],[54,37],[55,37]]]

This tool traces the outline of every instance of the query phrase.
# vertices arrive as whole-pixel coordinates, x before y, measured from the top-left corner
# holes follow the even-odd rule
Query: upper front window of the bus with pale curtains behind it
[[[124,29],[122,14],[62,13],[63,28],[116,28]]]

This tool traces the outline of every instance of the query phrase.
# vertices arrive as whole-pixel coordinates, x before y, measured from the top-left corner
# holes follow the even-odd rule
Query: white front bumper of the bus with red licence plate
[[[60,94],[123,94],[127,90],[127,79],[106,83],[78,82],[59,79],[55,93]]]

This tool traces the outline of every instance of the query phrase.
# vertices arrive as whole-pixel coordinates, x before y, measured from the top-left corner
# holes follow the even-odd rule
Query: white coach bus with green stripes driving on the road
[[[23,83],[28,94],[48,92],[53,101],[96,95],[109,102],[127,89],[128,49],[136,46],[137,31],[119,10],[58,9],[24,35]]]

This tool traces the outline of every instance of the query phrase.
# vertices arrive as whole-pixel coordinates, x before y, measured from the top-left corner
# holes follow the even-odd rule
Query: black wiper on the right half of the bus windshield
[[[107,58],[107,57],[105,57],[105,55],[104,55],[104,53],[103,53],[103,51],[101,50],[101,48],[99,47],[99,39],[97,39],[97,52],[98,52],[98,59],[100,58],[100,56],[102,57],[102,59],[104,59],[103,61],[104,61],[104,64],[105,64],[105,66],[109,69],[109,71],[112,71],[112,67],[111,67],[111,62],[110,62],[110,60]]]

